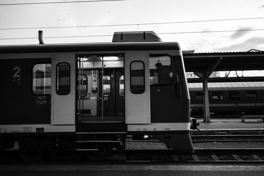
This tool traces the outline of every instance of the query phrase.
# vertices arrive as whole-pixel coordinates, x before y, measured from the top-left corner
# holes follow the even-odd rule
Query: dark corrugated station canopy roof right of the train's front
[[[214,71],[264,70],[264,51],[254,52],[183,52],[187,72],[205,72],[215,64]],[[220,62],[218,62],[220,59]]]

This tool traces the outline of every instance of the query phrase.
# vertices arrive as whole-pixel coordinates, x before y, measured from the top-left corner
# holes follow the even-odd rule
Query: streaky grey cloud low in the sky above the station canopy
[[[248,51],[250,49],[263,50],[263,43],[264,37],[252,37],[241,43],[233,44],[226,47],[215,48],[214,50],[216,52]]]

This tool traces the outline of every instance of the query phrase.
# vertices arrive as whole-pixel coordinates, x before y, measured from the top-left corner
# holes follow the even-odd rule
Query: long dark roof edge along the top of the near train
[[[118,42],[0,46],[0,53],[181,50],[177,42]]]

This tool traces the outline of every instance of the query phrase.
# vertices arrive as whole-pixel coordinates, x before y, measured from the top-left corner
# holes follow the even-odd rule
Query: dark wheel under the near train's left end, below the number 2
[[[44,155],[44,149],[38,145],[37,139],[34,138],[21,139],[19,151],[22,158],[28,162],[38,161]]]

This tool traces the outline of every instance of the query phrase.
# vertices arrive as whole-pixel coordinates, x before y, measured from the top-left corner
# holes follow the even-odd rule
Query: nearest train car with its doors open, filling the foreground
[[[112,43],[0,47],[0,146],[21,155],[122,153],[127,135],[152,135],[192,153],[190,95],[177,42],[116,32]]]

